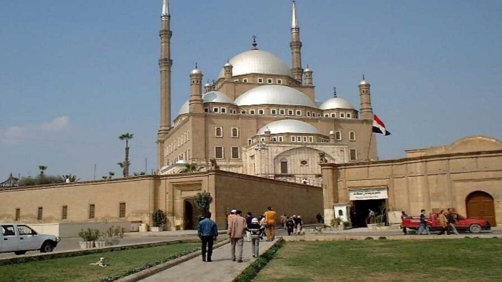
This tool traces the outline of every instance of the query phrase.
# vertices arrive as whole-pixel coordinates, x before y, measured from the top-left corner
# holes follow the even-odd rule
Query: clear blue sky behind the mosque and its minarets
[[[468,135],[502,139],[502,1],[298,0],[303,64],[317,99],[359,105],[361,74],[391,136],[381,159]],[[0,180],[10,172],[120,174],[156,168],[162,0],[0,0]],[[250,49],[290,59],[291,1],[171,0],[172,112],[195,62],[215,79]]]

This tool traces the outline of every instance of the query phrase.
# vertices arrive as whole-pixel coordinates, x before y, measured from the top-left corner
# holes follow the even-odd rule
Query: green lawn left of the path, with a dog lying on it
[[[0,266],[0,281],[96,281],[127,272],[200,243],[179,243]],[[89,265],[104,257],[107,267]]]

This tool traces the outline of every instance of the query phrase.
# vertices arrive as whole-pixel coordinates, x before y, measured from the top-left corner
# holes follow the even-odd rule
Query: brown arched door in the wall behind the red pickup
[[[495,206],[493,197],[483,191],[474,191],[465,199],[467,217],[488,220],[491,226],[495,226]]]

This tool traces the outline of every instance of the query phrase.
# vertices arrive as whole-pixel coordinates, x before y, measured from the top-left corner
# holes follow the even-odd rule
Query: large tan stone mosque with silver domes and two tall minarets
[[[378,159],[371,137],[370,84],[358,85],[360,105],[336,95],[316,100],[313,71],[302,67],[297,7],[292,5],[291,67],[278,56],[252,48],[222,62],[219,76],[202,85],[197,67],[190,94],[171,123],[171,30],[169,1],[162,11],[160,174],[193,163],[271,179],[320,185],[319,162]],[[355,88],[355,86],[354,86]],[[188,95],[187,95],[188,96]],[[372,141],[373,140],[373,141]]]

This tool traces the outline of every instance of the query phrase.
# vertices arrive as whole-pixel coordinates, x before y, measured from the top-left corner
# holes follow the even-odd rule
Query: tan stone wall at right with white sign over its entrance
[[[451,207],[469,217],[485,217],[492,225],[502,222],[502,142],[493,138],[473,136],[448,146],[410,150],[402,159],[321,166],[326,222],[334,216],[335,203],[353,205],[354,189],[387,192],[390,212],[418,215],[422,208]],[[485,210],[469,210],[475,193],[484,195]],[[478,214],[491,213],[486,209],[493,215]]]

